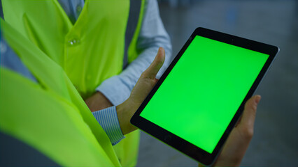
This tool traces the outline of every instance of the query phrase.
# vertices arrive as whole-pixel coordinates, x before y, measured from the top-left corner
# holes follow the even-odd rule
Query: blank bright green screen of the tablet
[[[140,116],[212,153],[267,58],[197,35]]]

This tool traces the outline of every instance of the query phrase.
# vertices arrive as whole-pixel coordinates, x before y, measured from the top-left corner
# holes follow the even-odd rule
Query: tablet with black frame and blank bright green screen
[[[278,51],[272,45],[197,28],[131,123],[211,165]]]

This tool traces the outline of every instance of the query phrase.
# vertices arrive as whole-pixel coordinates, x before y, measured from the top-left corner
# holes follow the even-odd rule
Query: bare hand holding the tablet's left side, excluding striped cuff
[[[136,130],[136,127],[130,124],[130,119],[157,83],[158,79],[155,77],[159,69],[164,64],[164,58],[164,49],[159,47],[154,61],[147,70],[141,74],[141,77],[136,82],[129,98],[122,104],[116,106],[122,134],[128,134],[129,132]]]

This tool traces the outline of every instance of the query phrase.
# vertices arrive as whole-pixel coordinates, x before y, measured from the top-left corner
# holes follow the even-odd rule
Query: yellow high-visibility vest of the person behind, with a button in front
[[[85,0],[72,24],[57,0],[3,0],[6,22],[34,42],[59,64],[83,98],[94,93],[102,81],[122,72],[129,0]],[[136,40],[143,8],[129,44],[128,62],[137,57]],[[114,146],[123,166],[136,164],[139,131],[126,135]]]

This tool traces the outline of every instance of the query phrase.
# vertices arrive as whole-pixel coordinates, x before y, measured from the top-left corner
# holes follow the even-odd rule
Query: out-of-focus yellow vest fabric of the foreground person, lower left
[[[62,166],[121,166],[111,141],[62,67],[2,19],[1,29],[38,81],[1,67],[1,132]]]

